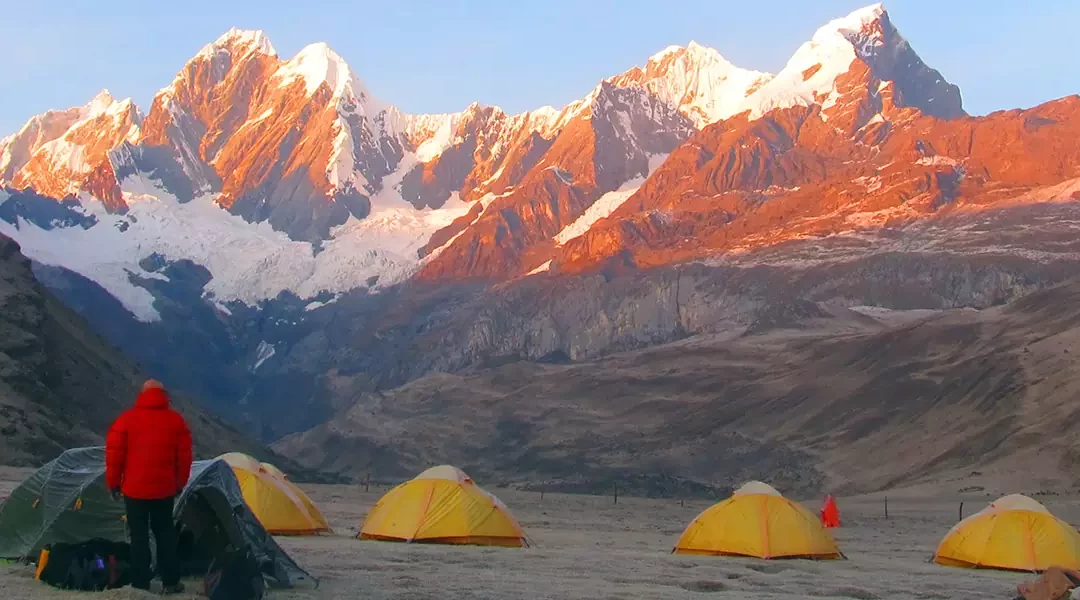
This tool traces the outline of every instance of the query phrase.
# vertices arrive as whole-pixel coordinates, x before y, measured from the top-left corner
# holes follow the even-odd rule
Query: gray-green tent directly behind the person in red
[[[246,543],[275,587],[316,583],[247,509],[240,483],[225,461],[191,465],[191,478],[173,516],[181,541],[183,532],[188,532],[188,541],[198,538],[202,544]],[[0,558],[36,559],[42,547],[57,542],[94,537],[124,542],[125,526],[123,503],[114,502],[105,488],[105,448],[76,448],[36,471],[0,505]],[[218,536],[203,535],[210,530]],[[208,556],[216,549],[197,545],[188,544],[188,551]]]

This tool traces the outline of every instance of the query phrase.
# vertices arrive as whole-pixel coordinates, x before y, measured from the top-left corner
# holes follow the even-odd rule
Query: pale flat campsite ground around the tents
[[[25,472],[0,467],[0,497]],[[310,598],[399,599],[991,599],[1012,598],[1030,575],[969,571],[930,564],[941,536],[956,522],[959,502],[971,514],[997,497],[963,499],[924,490],[839,501],[837,531],[846,561],[757,561],[673,556],[683,528],[707,503],[548,494],[492,489],[522,522],[535,547],[492,549],[406,546],[353,538],[384,492],[346,486],[305,487],[324,509],[336,535],[279,538],[302,567],[322,579],[318,590],[275,591],[271,600]],[[1078,522],[1080,504],[1038,499]],[[816,501],[812,505],[816,508]],[[0,567],[0,598],[81,598],[32,579],[27,568]],[[197,584],[190,584],[194,587]],[[136,599],[125,589],[103,599]],[[149,598],[147,596],[147,598]]]

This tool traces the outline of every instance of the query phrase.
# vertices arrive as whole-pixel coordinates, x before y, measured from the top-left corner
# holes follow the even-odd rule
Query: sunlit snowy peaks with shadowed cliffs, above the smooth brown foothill
[[[230,30],[145,115],[103,94],[0,141],[0,233],[273,438],[432,371],[1005,302],[1075,273],[1078,129],[1076,97],[968,117],[881,5],[779,73],[690,42],[519,114],[405,114],[325,44]]]

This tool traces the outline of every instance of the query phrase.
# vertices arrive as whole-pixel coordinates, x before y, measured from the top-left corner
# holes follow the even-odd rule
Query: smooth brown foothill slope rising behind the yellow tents
[[[1078,294],[1072,279],[981,311],[805,305],[768,333],[433,373],[275,447],[357,478],[450,460],[584,493],[1071,489]]]

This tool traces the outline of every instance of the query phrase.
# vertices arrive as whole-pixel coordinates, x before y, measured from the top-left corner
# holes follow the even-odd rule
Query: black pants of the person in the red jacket
[[[124,497],[127,532],[132,538],[132,586],[149,589],[150,531],[158,542],[158,573],[166,586],[179,583],[176,573],[176,529],[173,527],[173,499],[136,500]]]

